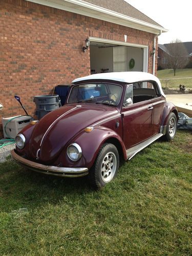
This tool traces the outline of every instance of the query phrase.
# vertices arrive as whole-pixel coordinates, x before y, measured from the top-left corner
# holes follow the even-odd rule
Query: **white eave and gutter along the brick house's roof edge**
[[[89,16],[106,22],[112,22],[125,27],[130,27],[153,34],[158,34],[159,31],[167,32],[161,26],[156,26],[150,23],[143,22],[142,20],[126,16],[124,14],[114,12],[103,7],[99,7],[82,0],[26,0],[40,5],[45,5],[84,16]]]

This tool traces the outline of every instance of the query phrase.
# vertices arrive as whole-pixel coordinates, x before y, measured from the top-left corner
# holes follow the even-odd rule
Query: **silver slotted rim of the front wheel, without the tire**
[[[101,179],[109,182],[113,179],[117,168],[117,158],[113,152],[106,154],[101,163]]]

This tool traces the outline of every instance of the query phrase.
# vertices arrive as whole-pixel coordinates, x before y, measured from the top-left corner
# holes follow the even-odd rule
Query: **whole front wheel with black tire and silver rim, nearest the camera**
[[[90,169],[89,180],[95,189],[101,189],[112,181],[119,169],[119,153],[115,145],[105,143]]]

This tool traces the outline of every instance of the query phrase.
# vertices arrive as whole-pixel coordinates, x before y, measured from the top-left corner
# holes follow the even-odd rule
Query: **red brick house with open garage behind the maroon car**
[[[59,83],[90,73],[155,73],[157,37],[167,30],[123,0],[1,0],[0,31],[2,122],[23,114],[14,95],[34,115],[33,97]]]

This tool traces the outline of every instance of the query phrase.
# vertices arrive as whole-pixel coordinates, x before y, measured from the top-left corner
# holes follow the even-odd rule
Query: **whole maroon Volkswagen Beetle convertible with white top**
[[[114,72],[75,79],[61,108],[32,121],[16,136],[12,158],[48,175],[88,175],[96,188],[163,136],[172,140],[178,112],[160,81],[144,72]]]

